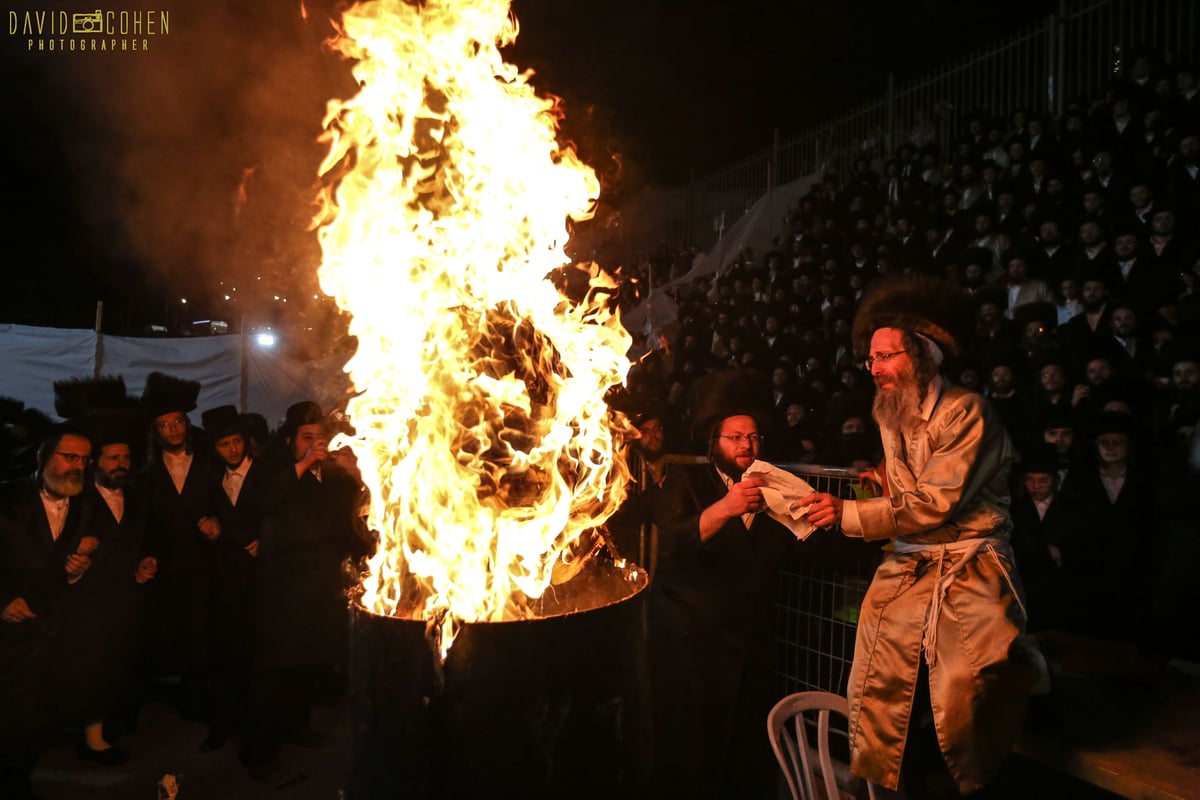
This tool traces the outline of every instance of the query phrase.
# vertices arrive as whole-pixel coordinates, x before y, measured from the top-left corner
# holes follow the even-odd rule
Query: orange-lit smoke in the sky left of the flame
[[[95,7],[55,6],[68,14]],[[23,121],[23,139],[46,130],[56,142],[31,174],[58,175],[71,194],[60,234],[89,242],[83,257],[104,272],[102,288],[170,287],[192,295],[198,312],[221,311],[232,288],[241,303],[234,314],[266,313],[280,294],[311,302],[317,137],[325,102],[354,91],[349,65],[322,46],[332,34],[330,1],[113,7],[134,8],[168,19],[156,35],[115,37],[119,47],[144,41],[144,52],[6,53],[24,71],[20,96],[34,118]],[[5,44],[26,48],[19,35]],[[36,241],[44,230],[25,235],[28,252],[44,247]]]

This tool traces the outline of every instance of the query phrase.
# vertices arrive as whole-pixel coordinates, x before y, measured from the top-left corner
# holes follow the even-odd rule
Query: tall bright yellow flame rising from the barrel
[[[515,37],[506,0],[374,0],[332,42],[360,86],[329,103],[318,224],[382,540],[361,602],[427,620],[443,656],[463,621],[526,615],[629,477],[611,284],[593,269],[571,302],[547,278],[599,184],[502,59]]]

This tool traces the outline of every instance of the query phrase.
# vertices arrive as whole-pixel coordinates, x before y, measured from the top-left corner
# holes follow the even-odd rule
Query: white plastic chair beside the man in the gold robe
[[[835,762],[829,752],[830,714],[840,714],[842,717],[850,714],[850,703],[845,697],[829,692],[797,692],[775,703],[775,708],[767,715],[770,747],[787,780],[792,800],[862,796],[864,784],[866,796],[875,800],[875,787],[851,776],[848,765]],[[815,750],[809,738],[812,728],[816,729]],[[822,783],[817,783],[818,780]],[[818,786],[822,786],[823,792],[818,790]]]

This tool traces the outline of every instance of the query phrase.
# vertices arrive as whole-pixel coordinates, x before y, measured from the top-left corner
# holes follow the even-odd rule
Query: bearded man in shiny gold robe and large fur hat
[[[814,493],[817,527],[894,540],[858,620],[851,769],[911,798],[986,796],[1020,732],[1032,670],[1009,657],[1026,615],[1010,545],[1013,446],[988,401],[941,374],[954,355],[952,290],[876,287],[854,320],[875,379],[880,497]],[[901,763],[902,762],[902,763]]]

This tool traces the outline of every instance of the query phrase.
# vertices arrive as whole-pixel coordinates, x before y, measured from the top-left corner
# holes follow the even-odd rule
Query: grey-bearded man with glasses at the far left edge
[[[59,426],[37,450],[37,475],[0,489],[0,798],[32,796],[37,751],[56,722],[46,669],[59,606],[97,545],[82,525],[90,462],[88,434]]]

